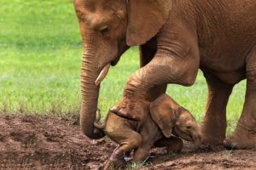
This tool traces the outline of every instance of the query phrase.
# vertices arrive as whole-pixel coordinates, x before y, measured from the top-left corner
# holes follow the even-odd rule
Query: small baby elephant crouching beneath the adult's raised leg
[[[141,122],[127,120],[109,111],[105,123],[95,123],[119,144],[109,160],[115,167],[124,166],[124,156],[132,150],[135,162],[143,161],[153,146],[166,146],[167,151],[178,152],[183,148],[183,141],[177,137],[193,142],[195,149],[200,146],[201,134],[194,117],[171,97],[162,94],[145,106],[148,111]]]

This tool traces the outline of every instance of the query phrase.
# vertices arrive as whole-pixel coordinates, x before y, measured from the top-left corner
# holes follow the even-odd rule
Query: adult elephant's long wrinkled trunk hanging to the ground
[[[96,111],[100,87],[95,82],[100,74],[94,57],[89,54],[83,56],[81,67],[81,94],[80,125],[83,133],[90,139],[101,139],[105,136],[102,129],[96,128]]]

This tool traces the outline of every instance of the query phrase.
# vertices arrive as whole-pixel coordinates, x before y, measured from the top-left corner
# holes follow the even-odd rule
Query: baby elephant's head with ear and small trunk
[[[166,138],[172,134],[193,143],[193,150],[201,145],[201,133],[195,118],[170,96],[162,94],[150,104],[150,115]]]

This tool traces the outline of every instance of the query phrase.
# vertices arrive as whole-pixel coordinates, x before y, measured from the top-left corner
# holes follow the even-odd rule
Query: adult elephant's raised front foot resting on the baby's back
[[[143,114],[148,110],[146,101],[140,99],[123,98],[119,105],[114,106],[110,111],[131,121],[142,121]]]

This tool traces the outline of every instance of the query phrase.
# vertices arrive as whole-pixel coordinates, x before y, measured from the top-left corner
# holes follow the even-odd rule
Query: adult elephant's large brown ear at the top
[[[129,0],[126,42],[141,45],[154,37],[170,14],[170,0]]]

